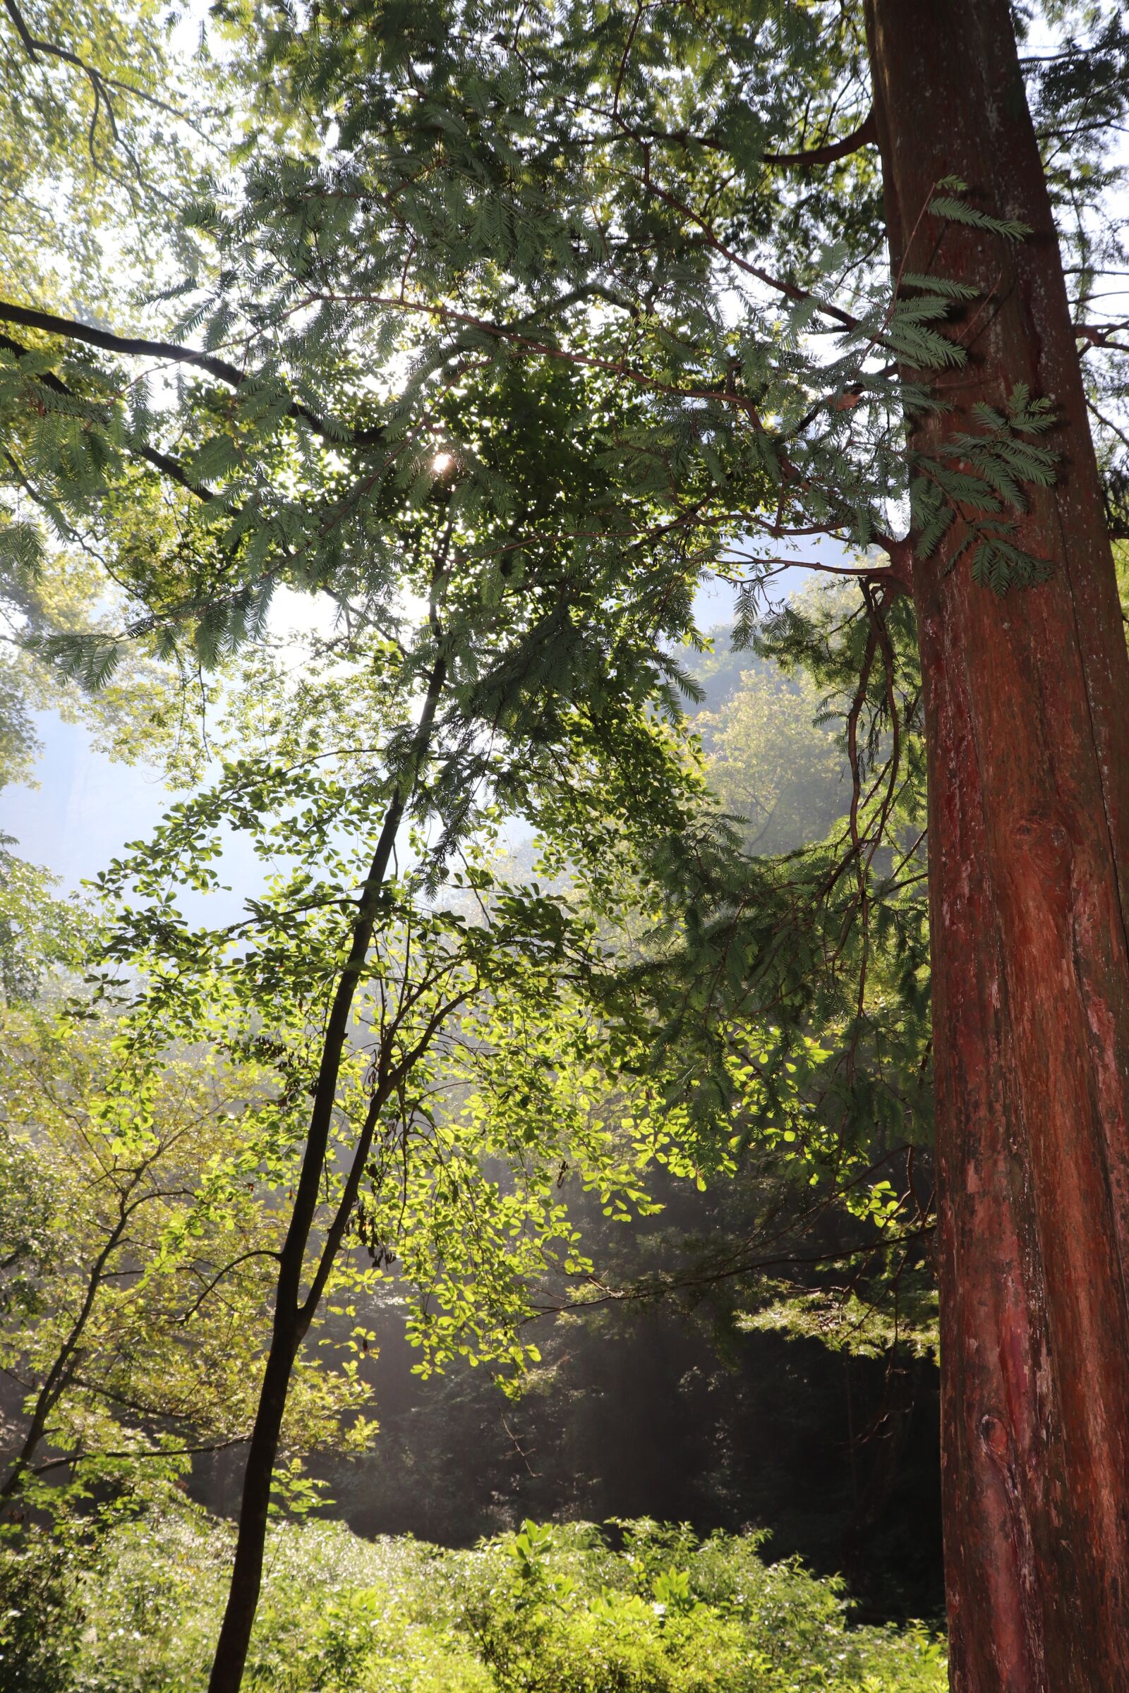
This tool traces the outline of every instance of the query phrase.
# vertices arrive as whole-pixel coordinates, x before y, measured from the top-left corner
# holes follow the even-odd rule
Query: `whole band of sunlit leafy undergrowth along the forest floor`
[[[758,1536],[653,1522],[538,1529],[459,1552],[278,1527],[244,1686],[252,1693],[941,1693],[926,1630],[846,1625],[834,1581],[765,1564]],[[117,1529],[54,1591],[51,1649],[7,1566],[0,1688],[198,1693],[230,1534],[176,1517]],[[0,1578],[5,1569],[0,1569]],[[12,1603],[15,1596],[15,1603]],[[32,1607],[34,1608],[34,1607]],[[22,1619],[20,1619],[22,1613]],[[68,1625],[63,1627],[63,1615]],[[7,1646],[5,1646],[7,1632]],[[19,1639],[24,1639],[20,1647]],[[39,1668],[36,1668],[36,1641]],[[22,1666],[17,1657],[22,1656]],[[12,1679],[15,1676],[17,1679]]]

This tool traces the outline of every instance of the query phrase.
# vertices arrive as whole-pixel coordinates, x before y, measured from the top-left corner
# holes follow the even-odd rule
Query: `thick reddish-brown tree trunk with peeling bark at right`
[[[928,450],[1017,383],[1060,427],[997,599],[914,562],[929,748],[943,1497],[958,1693],[1129,1688],[1129,662],[1007,0],[867,0],[894,274],[975,284]],[[941,176],[1034,230],[924,215]]]

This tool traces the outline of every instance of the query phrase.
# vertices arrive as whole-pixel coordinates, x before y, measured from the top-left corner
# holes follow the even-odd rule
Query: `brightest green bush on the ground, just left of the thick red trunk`
[[[623,1524],[508,1536],[462,1554],[455,1586],[499,1693],[936,1693],[921,1629],[851,1629],[840,1583],[765,1564],[763,1536]]]

